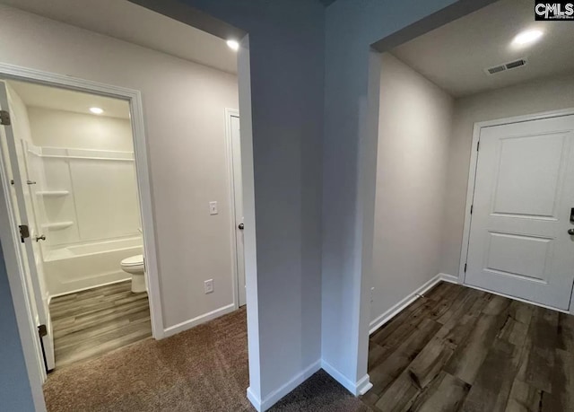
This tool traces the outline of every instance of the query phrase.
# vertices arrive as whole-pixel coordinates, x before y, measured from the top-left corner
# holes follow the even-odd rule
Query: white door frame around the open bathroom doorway
[[[0,78],[3,80],[18,80],[24,82],[46,84],[78,92],[90,92],[92,94],[100,94],[102,96],[117,98],[129,102],[132,133],[134,137],[135,170],[137,176],[137,187],[139,191],[139,206],[142,214],[143,255],[145,257],[145,276],[147,277],[148,282],[150,314],[152,319],[152,336],[156,339],[161,339],[164,337],[164,329],[163,318],[161,316],[160,279],[156,255],[155,230],[152,212],[151,179],[148,167],[146,136],[143,127],[143,105],[141,92],[127,89],[125,87],[92,82],[90,80],[83,80],[67,75],[57,75],[26,67],[7,65],[4,63],[0,63]],[[10,205],[10,203],[6,203],[6,199],[10,198],[10,194],[6,191],[7,188],[3,187],[2,190],[3,193],[0,196],[0,200],[3,200],[3,204],[0,206],[0,222],[10,222],[12,224],[13,210],[10,209],[12,205]],[[10,238],[12,239],[10,240]],[[30,376],[30,383],[32,383],[32,380],[36,382],[38,378],[40,378],[40,381],[43,381],[43,375],[38,371],[38,368],[31,367],[30,362],[28,362],[29,359],[34,359],[36,357],[36,354],[31,354],[30,351],[34,350],[31,342],[38,339],[34,331],[34,326],[30,323],[30,302],[28,302],[25,294],[25,289],[23,289],[26,286],[22,283],[24,279],[22,278],[22,273],[20,272],[19,258],[16,252],[19,244],[13,244],[13,241],[17,241],[15,240],[14,236],[3,236],[2,241],[4,247],[4,261],[8,271],[8,279],[10,282],[14,309],[18,319],[18,329],[22,337],[22,347],[27,359],[26,364],[28,368],[28,374]],[[34,333],[31,339],[30,330]],[[32,385],[32,390],[37,390],[37,387],[34,384]],[[41,386],[39,390],[39,395],[43,399]]]

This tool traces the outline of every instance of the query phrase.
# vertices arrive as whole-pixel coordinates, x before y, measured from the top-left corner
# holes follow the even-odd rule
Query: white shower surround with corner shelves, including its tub
[[[128,280],[143,253],[134,153],[28,145],[50,297]],[[34,170],[32,170],[34,171]]]

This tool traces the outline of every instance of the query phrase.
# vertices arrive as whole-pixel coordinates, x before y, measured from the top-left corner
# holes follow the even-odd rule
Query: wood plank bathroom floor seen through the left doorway
[[[132,293],[130,281],[56,297],[49,311],[56,368],[152,336],[147,294]]]

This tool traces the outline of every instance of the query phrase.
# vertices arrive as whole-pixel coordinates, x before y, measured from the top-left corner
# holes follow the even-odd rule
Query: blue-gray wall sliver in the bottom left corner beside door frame
[[[5,228],[3,228],[5,230]],[[0,249],[0,408],[6,412],[34,410],[22,342]]]

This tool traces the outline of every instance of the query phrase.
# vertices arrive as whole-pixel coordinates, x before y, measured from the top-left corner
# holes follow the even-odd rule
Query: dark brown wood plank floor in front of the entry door
[[[370,337],[375,411],[574,411],[574,316],[441,283]]]

